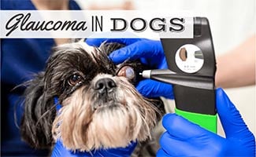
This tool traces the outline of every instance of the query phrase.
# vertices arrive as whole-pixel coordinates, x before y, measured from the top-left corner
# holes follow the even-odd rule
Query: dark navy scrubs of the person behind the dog
[[[35,6],[30,0],[1,0],[1,9],[35,10]],[[69,9],[80,7],[72,0],[69,1]],[[49,150],[36,150],[21,140],[18,127],[23,113],[21,102],[24,87],[13,88],[44,70],[52,46],[53,38],[1,38],[2,156],[49,155]]]

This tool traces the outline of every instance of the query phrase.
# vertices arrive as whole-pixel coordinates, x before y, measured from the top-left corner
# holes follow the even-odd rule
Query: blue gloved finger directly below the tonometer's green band
[[[204,130],[201,126],[176,114],[165,115],[162,119],[162,125],[170,135],[184,140],[210,133],[210,131]]]

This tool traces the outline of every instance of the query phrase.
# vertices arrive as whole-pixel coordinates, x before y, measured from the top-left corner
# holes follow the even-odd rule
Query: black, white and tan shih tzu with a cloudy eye
[[[74,42],[55,47],[45,71],[26,83],[20,126],[24,141],[34,148],[51,148],[61,139],[69,150],[90,152],[149,139],[163,104],[135,89],[145,65],[109,60],[108,54],[122,46]]]

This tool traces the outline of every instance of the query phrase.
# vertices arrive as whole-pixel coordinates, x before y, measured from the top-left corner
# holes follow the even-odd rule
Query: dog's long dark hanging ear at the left
[[[33,148],[50,148],[53,138],[52,123],[56,115],[53,97],[45,90],[44,72],[27,82],[24,92],[24,115],[21,119],[20,133],[24,141]]]

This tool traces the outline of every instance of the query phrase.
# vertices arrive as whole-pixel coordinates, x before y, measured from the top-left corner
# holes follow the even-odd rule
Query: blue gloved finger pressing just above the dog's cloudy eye
[[[113,51],[109,54],[109,58],[113,60],[113,63],[120,64],[127,60],[136,60],[140,57],[153,57],[157,56],[158,52],[162,52],[161,42],[160,41],[150,41],[150,40],[141,40],[139,42],[134,42],[129,46],[125,46],[121,49]],[[158,58],[155,58],[156,60]]]

